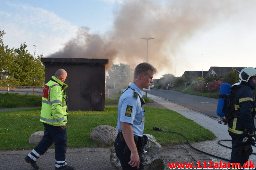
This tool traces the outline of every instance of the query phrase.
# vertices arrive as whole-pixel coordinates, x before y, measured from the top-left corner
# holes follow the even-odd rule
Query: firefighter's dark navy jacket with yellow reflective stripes
[[[249,86],[241,86],[235,90],[234,117],[228,122],[228,131],[233,134],[242,134],[246,129],[250,134],[255,133],[255,97]]]

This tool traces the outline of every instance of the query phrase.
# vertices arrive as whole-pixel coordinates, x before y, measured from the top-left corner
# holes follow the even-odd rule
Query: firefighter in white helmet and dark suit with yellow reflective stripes
[[[235,100],[232,107],[232,119],[228,121],[228,132],[232,138],[232,152],[230,163],[244,163],[248,161],[252,152],[251,143],[255,137],[255,96],[254,88],[256,87],[256,69],[245,68],[239,74],[238,83],[232,88],[235,89]],[[249,139],[247,139],[249,138]],[[230,168],[232,169],[232,168]]]

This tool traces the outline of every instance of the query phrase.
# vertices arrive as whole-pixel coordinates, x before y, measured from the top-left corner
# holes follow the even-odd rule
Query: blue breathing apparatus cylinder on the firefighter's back
[[[230,88],[231,85],[229,83],[222,83],[220,85],[220,93],[217,104],[217,114],[220,118],[226,116],[228,112]]]

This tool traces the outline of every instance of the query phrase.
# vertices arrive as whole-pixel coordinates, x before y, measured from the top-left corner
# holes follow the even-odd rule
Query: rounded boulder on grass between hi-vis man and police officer
[[[117,136],[116,128],[108,125],[100,125],[91,131],[91,140],[97,141],[104,145],[112,144]]]

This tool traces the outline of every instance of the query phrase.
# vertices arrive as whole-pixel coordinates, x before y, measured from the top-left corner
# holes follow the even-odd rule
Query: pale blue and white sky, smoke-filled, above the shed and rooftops
[[[45,57],[148,62],[154,79],[256,67],[254,0],[0,0],[3,43]]]

